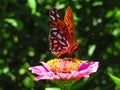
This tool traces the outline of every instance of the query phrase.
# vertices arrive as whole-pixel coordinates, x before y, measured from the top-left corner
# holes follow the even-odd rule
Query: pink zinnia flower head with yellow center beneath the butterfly
[[[98,69],[99,62],[87,62],[77,58],[52,59],[40,66],[30,67],[38,80],[72,80],[89,77]]]

